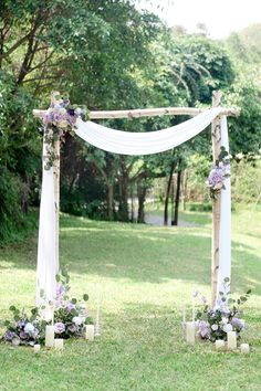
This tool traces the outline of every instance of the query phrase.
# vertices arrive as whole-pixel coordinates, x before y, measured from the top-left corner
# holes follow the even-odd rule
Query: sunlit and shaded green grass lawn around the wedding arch
[[[188,346],[180,306],[198,288],[210,296],[211,216],[182,214],[189,228],[156,228],[61,218],[61,263],[75,295],[102,295],[102,337],[34,356],[0,345],[0,390],[261,390],[261,210],[233,213],[232,290],[253,295],[242,340],[251,353]],[[200,224],[200,225],[199,225]],[[33,306],[36,233],[0,250],[0,318]]]

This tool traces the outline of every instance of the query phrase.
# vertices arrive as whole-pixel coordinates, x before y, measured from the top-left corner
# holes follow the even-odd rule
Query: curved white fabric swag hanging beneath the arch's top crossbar
[[[130,133],[107,128],[93,121],[76,121],[75,133],[88,144],[121,155],[150,155],[175,148],[202,131],[220,113],[210,108],[182,124],[157,131]]]

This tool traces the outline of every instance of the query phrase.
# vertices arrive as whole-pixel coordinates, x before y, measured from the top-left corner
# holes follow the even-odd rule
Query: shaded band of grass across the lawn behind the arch
[[[205,228],[155,228],[96,222],[63,215],[61,263],[72,273],[134,282],[182,279],[210,284],[211,237]],[[234,287],[261,295],[261,257],[252,247],[232,243]],[[35,268],[36,237],[0,253],[0,268]]]

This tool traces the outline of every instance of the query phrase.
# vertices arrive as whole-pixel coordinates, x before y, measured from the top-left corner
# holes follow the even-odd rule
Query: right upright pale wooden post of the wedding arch
[[[220,106],[221,93],[213,91],[212,107]],[[221,147],[220,117],[212,121],[212,156],[213,163],[218,160]],[[220,232],[220,193],[212,201],[212,264],[211,264],[211,304],[216,305],[219,270],[219,232]]]

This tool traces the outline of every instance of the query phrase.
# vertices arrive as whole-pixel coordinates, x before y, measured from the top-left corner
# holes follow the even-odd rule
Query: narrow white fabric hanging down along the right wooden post
[[[220,120],[221,146],[229,152],[229,137],[227,117]],[[220,232],[219,232],[219,271],[218,293],[222,289],[226,277],[231,276],[231,189],[230,177],[225,180],[226,189],[221,190],[220,205]],[[218,297],[219,295],[217,295]]]

